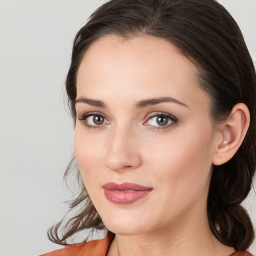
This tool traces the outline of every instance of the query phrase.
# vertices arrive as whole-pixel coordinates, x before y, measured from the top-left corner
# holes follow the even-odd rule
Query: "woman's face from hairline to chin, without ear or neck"
[[[118,234],[205,218],[216,139],[196,67],[169,42],[104,36],[77,73],[75,157]]]

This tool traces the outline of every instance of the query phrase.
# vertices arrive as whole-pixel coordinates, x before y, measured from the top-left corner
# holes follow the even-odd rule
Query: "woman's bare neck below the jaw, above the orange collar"
[[[183,216],[151,232],[116,234],[107,256],[227,256],[234,251],[213,236],[206,211],[195,216]]]

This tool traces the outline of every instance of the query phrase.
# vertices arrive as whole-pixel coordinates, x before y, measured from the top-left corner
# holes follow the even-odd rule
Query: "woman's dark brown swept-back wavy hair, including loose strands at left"
[[[211,99],[213,122],[224,120],[232,107],[242,102],[250,111],[250,125],[235,155],[213,166],[207,200],[212,233],[223,244],[245,250],[253,240],[253,227],[240,205],[248,195],[255,172],[256,75],[241,31],[228,11],[215,0],[110,0],[92,13],[73,42],[66,92],[75,121],[76,74],[90,44],[107,34],[130,38],[139,34],[164,38],[198,68],[197,79]],[[64,177],[76,169],[80,193],[70,202],[77,213],[48,230],[51,241],[67,244],[67,239],[87,228],[104,225],[81,181],[74,159]]]

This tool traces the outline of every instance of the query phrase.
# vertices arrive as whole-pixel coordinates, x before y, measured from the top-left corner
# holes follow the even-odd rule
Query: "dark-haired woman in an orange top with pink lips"
[[[108,232],[44,255],[251,255],[240,203],[255,172],[256,75],[219,3],[104,3],[75,37],[66,91],[80,210],[48,236]]]

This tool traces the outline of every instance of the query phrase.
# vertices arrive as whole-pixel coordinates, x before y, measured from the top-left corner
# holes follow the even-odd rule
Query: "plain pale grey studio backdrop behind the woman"
[[[62,175],[73,124],[63,84],[75,33],[103,0],[0,0],[0,255],[60,246],[46,230],[67,210]],[[256,60],[256,0],[220,0]],[[255,182],[254,182],[255,184]],[[246,206],[256,226],[255,192]],[[256,253],[256,243],[251,246]]]

